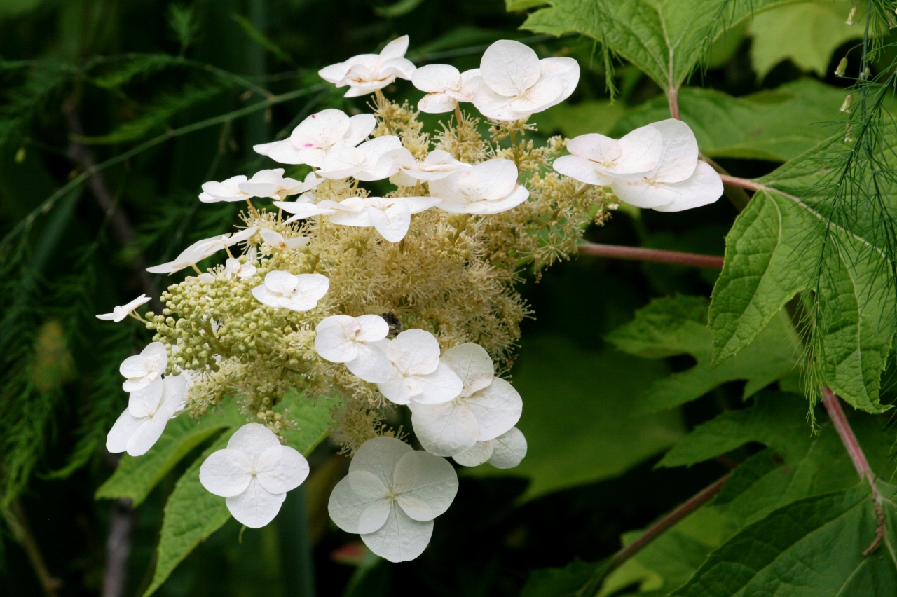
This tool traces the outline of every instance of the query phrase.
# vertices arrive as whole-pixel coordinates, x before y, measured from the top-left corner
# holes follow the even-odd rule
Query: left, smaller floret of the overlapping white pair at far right
[[[663,147],[663,135],[652,125],[619,141],[603,134],[581,134],[570,139],[570,155],[554,160],[554,169],[588,185],[607,186],[614,178],[641,177],[656,168]]]

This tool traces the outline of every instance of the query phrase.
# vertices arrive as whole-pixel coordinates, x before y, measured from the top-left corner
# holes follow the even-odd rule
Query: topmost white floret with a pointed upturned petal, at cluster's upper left
[[[354,98],[383,89],[389,83],[400,79],[410,79],[414,64],[405,58],[408,50],[408,36],[390,41],[379,54],[359,54],[335,65],[318,71],[322,79],[336,87],[349,86],[345,97]]]

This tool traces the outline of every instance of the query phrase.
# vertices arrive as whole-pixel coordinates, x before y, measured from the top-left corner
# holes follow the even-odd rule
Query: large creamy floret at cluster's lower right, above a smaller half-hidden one
[[[520,394],[495,376],[492,359],[483,347],[470,342],[459,344],[446,350],[442,362],[464,384],[457,398],[440,404],[423,404],[415,399],[408,404],[414,435],[427,452],[460,454],[517,424],[523,411]]]

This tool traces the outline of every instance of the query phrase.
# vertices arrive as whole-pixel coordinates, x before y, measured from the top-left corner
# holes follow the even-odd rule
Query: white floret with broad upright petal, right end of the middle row
[[[517,183],[511,160],[488,160],[451,176],[432,180],[430,195],[441,199],[437,207],[451,213],[499,213],[527,200],[527,187]]]

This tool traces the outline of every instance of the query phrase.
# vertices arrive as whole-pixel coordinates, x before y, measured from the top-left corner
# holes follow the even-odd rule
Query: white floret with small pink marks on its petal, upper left
[[[289,139],[263,143],[253,149],[282,164],[308,164],[318,168],[330,151],[354,147],[374,130],[373,114],[346,116],[343,110],[330,108],[312,114],[292,129]],[[308,178],[306,178],[308,182]]]

